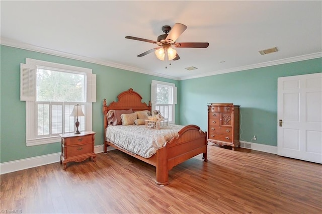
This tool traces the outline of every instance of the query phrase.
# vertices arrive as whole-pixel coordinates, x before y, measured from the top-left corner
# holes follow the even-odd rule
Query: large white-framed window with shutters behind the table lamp
[[[26,101],[27,146],[60,141],[60,134],[75,132],[69,117],[75,104],[79,131],[92,131],[92,102],[96,100],[96,76],[92,69],[26,59],[21,64],[21,100]]]

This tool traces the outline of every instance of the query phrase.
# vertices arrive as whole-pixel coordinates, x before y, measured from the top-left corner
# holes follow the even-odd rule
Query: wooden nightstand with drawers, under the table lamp
[[[66,169],[68,162],[81,162],[87,158],[96,161],[94,153],[95,132],[68,133],[61,136],[60,164]]]

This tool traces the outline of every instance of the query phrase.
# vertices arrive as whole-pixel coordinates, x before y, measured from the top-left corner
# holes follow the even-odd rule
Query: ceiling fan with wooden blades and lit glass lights
[[[157,37],[157,41],[142,39],[133,36],[126,36],[126,39],[133,39],[142,42],[149,42],[158,45],[159,47],[152,48],[144,53],[137,55],[138,57],[145,56],[149,53],[154,51],[156,57],[160,60],[178,60],[180,59],[179,55],[177,54],[176,48],[207,48],[209,46],[208,42],[179,42],[177,43],[176,40],[179,36],[187,29],[187,26],[176,23],[173,28],[171,29],[170,26],[165,25],[162,27],[162,31],[165,34],[162,34]],[[168,34],[169,33],[169,34]]]

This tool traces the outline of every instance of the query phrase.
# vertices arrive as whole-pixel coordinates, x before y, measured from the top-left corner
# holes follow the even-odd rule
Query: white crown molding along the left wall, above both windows
[[[133,72],[143,73],[143,74],[152,75],[152,76],[158,76],[158,77],[164,77],[164,78],[168,78],[168,79],[179,80],[179,78],[174,77],[174,76],[170,76],[170,75],[159,74],[159,73],[155,73],[153,71],[148,71],[148,70],[144,70],[144,69],[140,69],[140,68],[136,68],[136,67],[132,67],[132,66],[127,66],[127,65],[114,63],[114,62],[103,61],[103,60],[98,60],[98,59],[94,59],[94,58],[90,58],[90,57],[65,53],[62,51],[57,51],[57,50],[53,50],[53,49],[30,45],[30,44],[10,40],[7,38],[0,38],[0,44],[14,47],[14,48],[20,48],[20,49],[24,49],[24,50],[28,50],[28,51],[36,51],[36,52],[40,52],[40,53],[44,53],[44,54],[50,54],[50,55],[54,55],[54,56],[65,57],[65,58],[75,59],[75,60],[81,60],[84,62],[99,64],[99,65],[105,65],[105,66],[119,68],[119,69],[123,69],[123,70],[127,70],[127,71],[133,71]]]

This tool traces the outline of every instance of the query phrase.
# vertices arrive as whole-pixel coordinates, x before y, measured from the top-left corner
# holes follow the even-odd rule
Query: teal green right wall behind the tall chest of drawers
[[[180,124],[207,130],[207,103],[240,105],[241,140],[277,146],[277,78],[322,72],[322,58],[180,81]],[[254,142],[254,141],[253,141]]]

